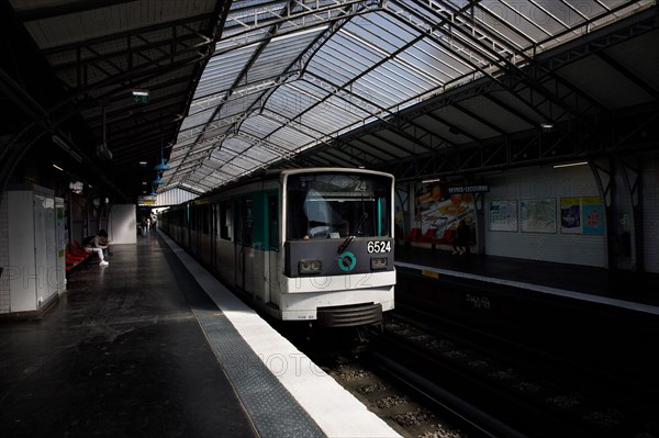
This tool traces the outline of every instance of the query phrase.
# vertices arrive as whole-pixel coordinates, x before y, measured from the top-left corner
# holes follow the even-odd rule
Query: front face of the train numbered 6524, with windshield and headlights
[[[393,178],[290,172],[282,184],[278,293],[286,321],[323,326],[381,322],[394,306]]]

